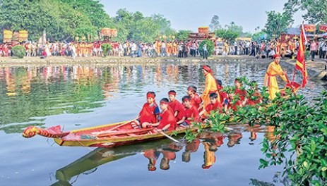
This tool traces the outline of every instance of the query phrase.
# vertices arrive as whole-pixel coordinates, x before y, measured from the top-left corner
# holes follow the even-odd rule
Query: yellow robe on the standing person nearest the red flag
[[[270,94],[269,99],[274,99],[276,97],[276,93],[280,92],[280,89],[277,84],[276,75],[279,75],[285,82],[287,82],[286,76],[283,75],[282,67],[275,62],[271,62],[268,66],[265,80],[263,82],[263,86],[268,87],[268,91]]]

